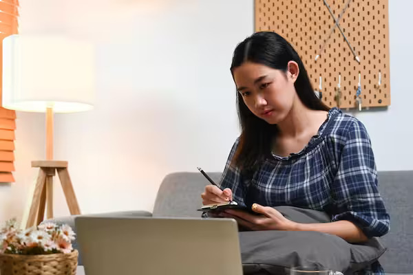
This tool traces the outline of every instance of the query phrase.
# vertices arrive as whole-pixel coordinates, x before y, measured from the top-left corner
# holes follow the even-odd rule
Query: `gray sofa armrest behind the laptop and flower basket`
[[[132,210],[132,211],[121,211],[121,212],[107,212],[107,213],[99,213],[99,214],[81,214],[81,215],[72,215],[67,217],[56,217],[53,219],[48,219],[42,222],[47,223],[57,223],[57,224],[67,224],[73,229],[76,233],[76,228],[74,227],[74,219],[79,216],[93,216],[93,217],[152,217],[152,213],[143,210]],[[79,250],[78,243],[76,239],[72,241],[73,249]],[[82,258],[81,252],[79,251],[78,254],[78,265],[82,265]]]

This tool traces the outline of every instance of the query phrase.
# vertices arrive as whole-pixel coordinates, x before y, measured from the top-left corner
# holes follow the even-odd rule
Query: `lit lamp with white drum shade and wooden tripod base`
[[[92,45],[65,36],[25,36],[3,39],[3,107],[46,113],[46,160],[39,167],[26,227],[53,217],[53,176],[62,184],[70,214],[81,214],[67,162],[53,158],[53,114],[87,111],[94,98]]]

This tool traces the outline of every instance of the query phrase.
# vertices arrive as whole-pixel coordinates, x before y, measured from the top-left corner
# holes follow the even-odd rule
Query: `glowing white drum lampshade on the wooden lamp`
[[[94,101],[92,45],[63,36],[3,39],[3,107],[56,113],[92,109]]]

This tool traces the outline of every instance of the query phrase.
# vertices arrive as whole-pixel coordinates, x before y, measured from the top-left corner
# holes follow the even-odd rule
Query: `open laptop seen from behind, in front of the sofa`
[[[242,275],[233,219],[75,219],[86,275]]]

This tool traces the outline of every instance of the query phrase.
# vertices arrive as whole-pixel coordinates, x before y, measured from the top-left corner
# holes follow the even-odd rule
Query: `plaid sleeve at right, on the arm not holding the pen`
[[[343,142],[341,150],[337,149],[341,156],[331,185],[332,199],[340,214],[332,221],[352,221],[366,236],[382,236],[390,229],[390,216],[377,188],[370,137],[359,120],[351,122]]]

